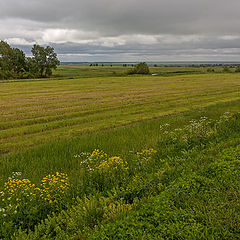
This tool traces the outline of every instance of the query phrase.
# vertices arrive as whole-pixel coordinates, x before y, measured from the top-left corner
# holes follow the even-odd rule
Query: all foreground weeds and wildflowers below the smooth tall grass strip
[[[240,113],[159,131],[154,149],[75,156],[77,183],[57,172],[38,186],[15,173],[1,193],[1,237],[238,239]]]

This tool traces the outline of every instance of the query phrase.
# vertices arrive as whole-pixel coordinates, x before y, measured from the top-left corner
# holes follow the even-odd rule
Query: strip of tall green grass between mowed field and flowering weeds
[[[171,129],[188,124],[201,116],[216,119],[224,112],[238,112],[240,101],[218,104],[207,108],[163,116],[160,119],[143,121],[121,128],[107,129],[71,139],[55,140],[21,153],[0,157],[0,175],[7,178],[14,171],[39,181],[46,174],[63,171],[72,179],[80,179],[82,159],[74,158],[81,152],[91,152],[95,148],[104,149],[109,154],[129,157],[129,152],[153,147],[162,137],[160,126],[170,124]],[[131,155],[131,154],[130,154]]]

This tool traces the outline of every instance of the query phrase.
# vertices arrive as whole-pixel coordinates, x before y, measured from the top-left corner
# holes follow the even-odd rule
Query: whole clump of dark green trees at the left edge
[[[50,46],[35,44],[31,52],[32,57],[26,57],[22,50],[0,41],[0,79],[46,78],[60,64]]]

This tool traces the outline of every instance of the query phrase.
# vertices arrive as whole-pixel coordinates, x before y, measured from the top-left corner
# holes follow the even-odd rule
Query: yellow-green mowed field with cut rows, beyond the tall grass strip
[[[240,99],[238,73],[124,71],[61,66],[65,77],[0,82],[0,153]]]

